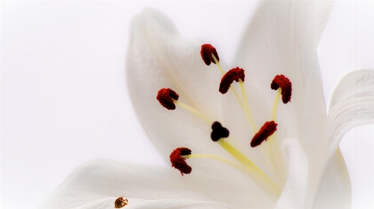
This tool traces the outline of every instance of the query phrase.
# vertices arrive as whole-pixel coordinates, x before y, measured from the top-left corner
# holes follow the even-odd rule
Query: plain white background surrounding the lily
[[[162,10],[182,36],[229,62],[255,2],[1,2],[1,208],[36,208],[75,166],[98,157],[164,165],[126,89],[131,18]],[[374,2],[336,3],[319,45],[326,104],[349,71],[374,69]],[[353,208],[373,206],[374,126],[342,152]]]

